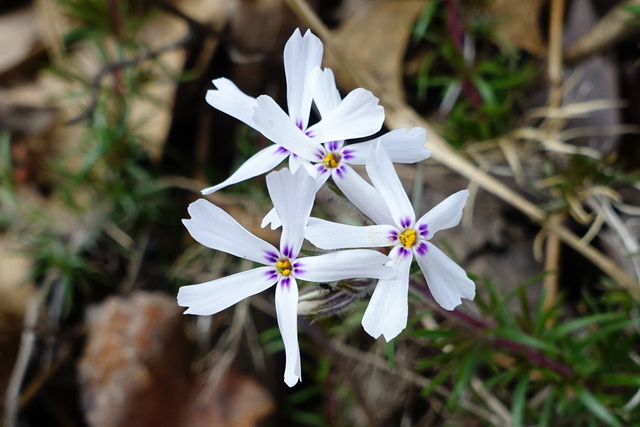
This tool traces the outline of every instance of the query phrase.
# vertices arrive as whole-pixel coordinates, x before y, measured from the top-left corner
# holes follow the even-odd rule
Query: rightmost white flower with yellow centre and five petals
[[[324,249],[392,247],[388,264],[395,277],[381,279],[362,319],[362,326],[374,338],[395,338],[407,325],[409,269],[415,257],[434,299],[446,310],[473,299],[475,284],[465,271],[429,240],[440,230],[456,226],[469,196],[459,191],[417,221],[411,202],[382,144],[371,145],[366,169],[379,197],[369,200],[371,210],[385,213],[390,222],[357,227],[310,218],[305,237]],[[368,184],[367,184],[368,185]],[[383,205],[380,205],[380,200]],[[382,216],[384,216],[382,215]]]

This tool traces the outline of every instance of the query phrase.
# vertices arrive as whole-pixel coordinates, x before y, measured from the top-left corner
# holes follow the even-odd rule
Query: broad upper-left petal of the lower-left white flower
[[[249,233],[228,213],[204,199],[191,203],[188,211],[191,219],[183,219],[182,223],[198,243],[208,248],[260,264],[269,262],[268,253],[278,253],[276,248]]]

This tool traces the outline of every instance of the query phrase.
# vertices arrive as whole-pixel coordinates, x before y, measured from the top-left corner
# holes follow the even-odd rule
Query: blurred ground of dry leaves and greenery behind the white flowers
[[[477,296],[443,311],[418,271],[386,343],[371,284],[302,286],[289,389],[272,290],[208,317],[175,295],[251,267],[180,220],[271,143],[211,80],[284,106],[295,28],[383,131],[427,129],[414,206],[471,190],[436,240]],[[0,2],[3,425],[640,425],[639,53],[638,0]],[[278,241],[264,177],[207,198]]]

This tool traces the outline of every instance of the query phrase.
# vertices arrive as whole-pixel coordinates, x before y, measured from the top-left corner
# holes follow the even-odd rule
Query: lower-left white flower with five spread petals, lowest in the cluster
[[[178,304],[185,313],[209,315],[255,295],[274,284],[278,326],[284,341],[284,381],[293,386],[300,380],[300,349],[297,335],[297,280],[329,282],[358,277],[381,278],[393,274],[384,264],[385,255],[367,249],[299,257],[304,227],[315,197],[315,181],[307,173],[288,169],[267,176],[267,188],[282,219],[280,248],[254,236],[219,207],[200,199],[189,205],[191,219],[183,220],[199,243],[262,267],[197,285],[183,286]]]

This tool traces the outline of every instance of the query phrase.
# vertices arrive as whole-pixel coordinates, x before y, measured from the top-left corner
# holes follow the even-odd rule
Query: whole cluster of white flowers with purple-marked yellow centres
[[[345,144],[378,132],[384,110],[371,92],[361,88],[341,99],[331,70],[320,68],[322,53],[322,42],[309,31],[303,36],[296,30],[287,42],[288,113],[269,96],[252,98],[224,78],[214,80],[216,89],[206,96],[210,105],[259,131],[273,145],[256,153],[225,181],[204,189],[203,194],[267,173],[289,160],[289,168],[266,178],[274,208],[263,226],[282,227],[280,247],[254,236],[204,199],[192,203],[188,209],[191,219],[183,220],[199,243],[261,266],[184,286],[178,293],[178,304],[187,307],[185,313],[210,315],[275,285],[286,355],[284,381],[289,386],[301,379],[299,280],[377,279],[362,325],[374,338],[383,335],[387,341],[407,324],[413,258],[444,309],[453,310],[461,298],[475,296],[475,285],[465,271],[430,242],[439,230],[460,222],[468,191],[453,194],[416,220],[393,163],[415,163],[429,157],[425,131],[398,129],[370,141]],[[312,105],[320,120],[309,125]],[[371,184],[350,165],[365,165]],[[316,192],[329,177],[375,225],[358,227],[310,217]],[[303,256],[304,239],[332,251]],[[384,247],[391,249],[380,249]]]

